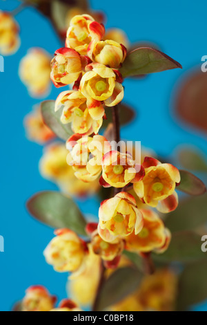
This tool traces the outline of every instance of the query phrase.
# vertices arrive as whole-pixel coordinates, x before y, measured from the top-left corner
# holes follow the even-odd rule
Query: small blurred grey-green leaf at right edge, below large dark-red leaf
[[[179,163],[185,168],[194,171],[207,171],[207,162],[197,150],[181,149],[178,154]]]

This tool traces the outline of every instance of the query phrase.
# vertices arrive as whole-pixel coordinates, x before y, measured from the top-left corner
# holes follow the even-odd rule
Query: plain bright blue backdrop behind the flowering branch
[[[90,1],[93,9],[107,15],[106,27],[126,31],[131,42],[151,41],[179,61],[184,69],[151,75],[146,80],[125,82],[125,100],[135,106],[137,120],[124,127],[121,135],[141,140],[162,155],[172,154],[177,145],[190,143],[206,151],[202,133],[178,124],[172,113],[177,81],[189,68],[201,65],[206,50],[206,1]],[[18,1],[0,1],[1,10],[12,10]],[[39,102],[29,97],[18,77],[19,61],[30,47],[39,46],[54,53],[61,46],[49,22],[30,8],[17,15],[21,26],[21,48],[5,58],[1,83],[1,219],[0,234],[5,239],[5,252],[0,253],[0,310],[10,310],[32,284],[43,284],[59,299],[66,297],[67,275],[48,266],[43,249],[52,230],[37,223],[26,212],[26,200],[35,192],[55,189],[39,175],[42,147],[29,142],[23,129],[23,118]],[[48,98],[59,91],[53,87]],[[84,212],[97,215],[98,202],[81,204]],[[207,309],[203,304],[197,309]]]

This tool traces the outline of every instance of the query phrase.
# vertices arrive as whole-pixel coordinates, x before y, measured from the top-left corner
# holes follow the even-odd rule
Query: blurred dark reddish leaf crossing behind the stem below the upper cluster
[[[106,118],[107,120],[103,120],[103,128],[108,127],[108,124],[112,123],[112,107],[106,107]],[[126,125],[132,120],[135,119],[136,113],[135,110],[132,109],[128,104],[124,104],[121,102],[119,104],[119,120],[121,125]]]

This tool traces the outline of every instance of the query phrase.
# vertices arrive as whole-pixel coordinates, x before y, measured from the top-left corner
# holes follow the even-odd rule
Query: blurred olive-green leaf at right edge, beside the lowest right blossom
[[[170,246],[164,254],[153,254],[155,261],[164,263],[192,263],[205,259],[207,255],[201,251],[201,236],[195,232],[184,231],[172,234]]]

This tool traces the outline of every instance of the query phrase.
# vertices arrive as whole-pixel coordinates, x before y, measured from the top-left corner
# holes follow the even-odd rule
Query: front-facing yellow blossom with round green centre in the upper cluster
[[[120,76],[111,68],[97,62],[86,66],[86,73],[81,78],[79,90],[89,100],[104,102],[106,106],[119,104],[124,97],[124,88]]]

